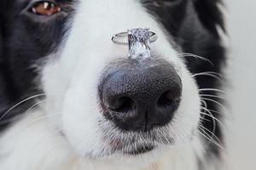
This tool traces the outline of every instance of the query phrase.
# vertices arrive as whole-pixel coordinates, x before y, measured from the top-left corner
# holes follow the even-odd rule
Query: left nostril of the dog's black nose
[[[117,105],[114,108],[110,108],[113,111],[119,113],[125,113],[135,108],[135,102],[130,97],[120,97],[117,100]]]

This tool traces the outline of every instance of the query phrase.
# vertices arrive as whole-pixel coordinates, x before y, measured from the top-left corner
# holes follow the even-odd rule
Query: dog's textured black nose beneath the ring
[[[182,82],[165,61],[115,63],[99,86],[104,115],[124,130],[148,131],[172,120]]]

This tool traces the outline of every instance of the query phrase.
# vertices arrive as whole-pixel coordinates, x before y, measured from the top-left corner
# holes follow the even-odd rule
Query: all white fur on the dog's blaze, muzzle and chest
[[[166,134],[174,144],[159,144],[159,150],[143,156],[107,156],[110,146],[102,139],[102,127],[112,125],[99,108],[97,83],[110,61],[127,57],[127,47],[113,44],[112,35],[137,27],[158,34],[153,53],[175,65],[183,82],[182,101]],[[164,32],[136,0],[81,1],[63,48],[51,54],[42,69],[45,104],[0,139],[0,156],[6,156],[0,169],[196,169],[196,156],[202,155],[195,131],[200,119],[198,89]],[[58,129],[65,137],[55,132]]]

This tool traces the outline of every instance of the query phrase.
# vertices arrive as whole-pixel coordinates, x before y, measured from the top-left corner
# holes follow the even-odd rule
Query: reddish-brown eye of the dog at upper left
[[[32,7],[33,14],[52,15],[61,11],[61,7],[49,1],[38,2]]]

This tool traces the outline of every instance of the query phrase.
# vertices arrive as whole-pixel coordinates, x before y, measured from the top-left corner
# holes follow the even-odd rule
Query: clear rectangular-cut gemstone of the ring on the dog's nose
[[[136,28],[128,30],[129,56],[150,57],[150,33],[148,28]]]

